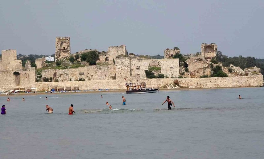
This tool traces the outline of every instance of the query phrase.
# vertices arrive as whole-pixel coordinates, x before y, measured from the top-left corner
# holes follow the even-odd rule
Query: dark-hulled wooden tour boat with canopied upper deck
[[[148,88],[145,82],[126,83],[126,93],[156,93],[159,88]]]

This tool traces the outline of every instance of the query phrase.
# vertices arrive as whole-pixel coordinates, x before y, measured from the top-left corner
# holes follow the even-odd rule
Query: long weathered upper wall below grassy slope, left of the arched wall
[[[45,69],[42,71],[42,77],[53,78],[53,81],[77,81],[80,78],[89,80],[110,80],[113,79],[116,67],[109,66],[86,66],[77,69]]]

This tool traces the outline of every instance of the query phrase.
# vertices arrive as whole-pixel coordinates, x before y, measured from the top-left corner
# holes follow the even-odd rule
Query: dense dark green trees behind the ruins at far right
[[[255,57],[227,57],[223,55],[222,52],[218,51],[216,53],[216,61],[222,62],[223,66],[229,66],[233,64],[234,66],[239,66],[241,69],[249,68],[249,67],[259,67],[260,72],[264,75],[264,59],[255,59]]]

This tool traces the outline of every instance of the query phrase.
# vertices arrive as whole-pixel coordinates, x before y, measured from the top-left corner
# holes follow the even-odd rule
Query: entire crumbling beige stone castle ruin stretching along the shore
[[[177,80],[185,87],[263,86],[263,76],[259,68],[242,70],[232,66],[233,71],[230,72],[229,68],[221,66],[229,77],[199,78],[211,75],[210,60],[216,55],[217,45],[202,44],[201,49],[202,55],[186,60],[188,69],[179,66],[179,59],[172,58],[173,55],[180,53],[180,49],[166,49],[164,59],[128,56],[125,45],[108,47],[107,52],[86,49],[78,54],[81,56],[83,53],[96,51],[100,58],[97,63],[104,64],[75,69],[43,69],[38,75],[35,75],[35,68],[31,68],[29,61],[25,64],[26,71],[23,71],[21,60],[17,60],[16,50],[3,50],[0,59],[0,90],[27,90],[32,87],[38,90],[124,89],[124,83],[130,80],[134,83],[146,82],[150,87],[161,87],[172,83],[174,78],[179,76],[184,77]],[[57,37],[56,60],[69,56],[76,56],[70,54],[70,37]],[[35,63],[37,68],[45,68],[45,58],[36,59]],[[213,64],[216,65],[221,64]],[[163,74],[165,78],[148,79],[145,70],[153,71],[156,76]],[[38,76],[49,79],[49,82],[35,82]]]

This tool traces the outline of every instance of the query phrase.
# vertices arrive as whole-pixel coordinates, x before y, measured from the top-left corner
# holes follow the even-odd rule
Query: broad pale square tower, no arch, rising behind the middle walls
[[[109,64],[114,64],[113,59],[116,60],[116,56],[127,55],[126,45],[110,46],[108,47],[107,53],[108,53]]]

